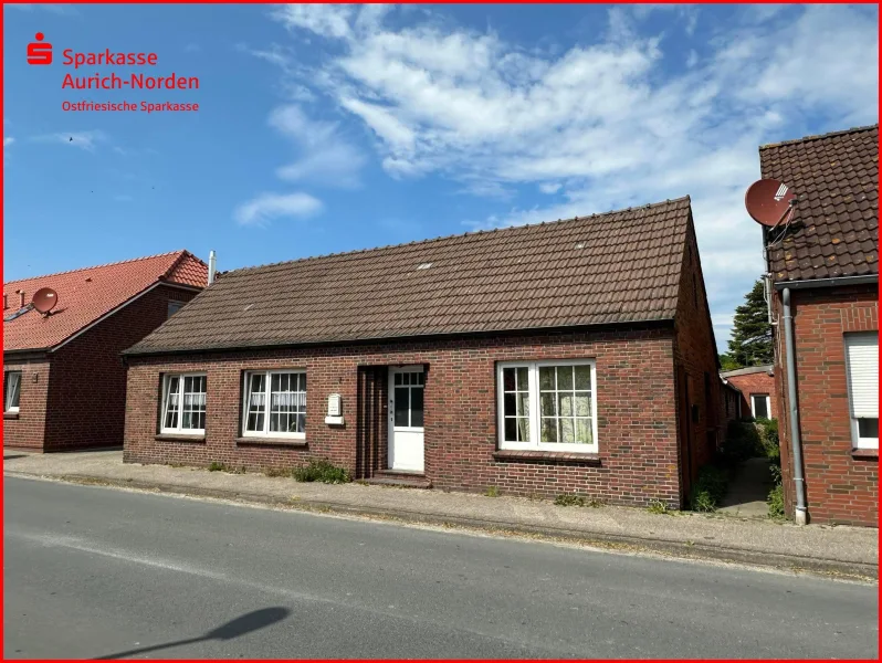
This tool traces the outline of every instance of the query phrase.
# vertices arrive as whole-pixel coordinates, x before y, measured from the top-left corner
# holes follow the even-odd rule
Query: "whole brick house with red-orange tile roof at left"
[[[4,283],[3,445],[120,446],[126,369],[119,352],[189,302],[207,274],[204,263],[176,251]],[[43,287],[57,293],[56,307],[14,317]]]

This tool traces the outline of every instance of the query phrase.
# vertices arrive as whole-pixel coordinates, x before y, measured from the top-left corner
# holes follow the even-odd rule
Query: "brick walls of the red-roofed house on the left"
[[[196,294],[160,285],[53,352],[4,352],[3,370],[21,370],[22,379],[19,412],[3,415],[3,445],[44,452],[122,445],[126,368],[119,354],[167,319],[169,301]]]

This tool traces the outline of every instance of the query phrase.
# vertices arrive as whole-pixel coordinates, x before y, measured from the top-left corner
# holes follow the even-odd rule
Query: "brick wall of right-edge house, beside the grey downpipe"
[[[879,455],[852,453],[846,378],[848,332],[879,329],[879,288],[791,291],[796,377],[808,512],[813,523],[878,525]],[[783,324],[780,293],[775,312]],[[794,514],[784,329],[776,334],[775,390],[788,514]]]

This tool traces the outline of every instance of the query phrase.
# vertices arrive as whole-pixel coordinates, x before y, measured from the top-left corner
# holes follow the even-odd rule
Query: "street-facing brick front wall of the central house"
[[[216,352],[179,357],[133,357],[128,369],[126,462],[265,470],[328,457],[364,475],[385,463],[386,411],[364,410],[359,393],[386,407],[382,376],[389,365],[422,364],[426,372],[426,476],[435,487],[553,497],[578,492],[612,504],[661,499],[680,506],[673,338],[670,328],[631,328],[578,334],[506,336],[324,346],[288,350]],[[496,362],[595,358],[599,459],[511,461],[494,457]],[[242,371],[305,368],[308,398],[306,448],[241,444]],[[372,368],[370,368],[372,367]],[[367,370],[366,368],[370,368]],[[203,439],[157,435],[160,376],[206,371]],[[372,383],[371,389],[366,385]],[[361,388],[359,389],[359,385]],[[345,427],[324,422],[327,397],[343,396]],[[358,433],[356,421],[372,422]]]

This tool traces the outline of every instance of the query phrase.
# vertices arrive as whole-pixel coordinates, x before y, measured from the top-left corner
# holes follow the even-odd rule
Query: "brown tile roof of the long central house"
[[[127,350],[671,319],[689,198],[224,273]]]

